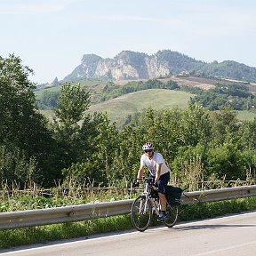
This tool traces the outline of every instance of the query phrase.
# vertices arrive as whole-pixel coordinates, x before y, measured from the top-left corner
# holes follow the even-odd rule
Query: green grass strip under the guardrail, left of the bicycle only
[[[0,249],[25,244],[38,244],[62,239],[71,239],[130,228],[132,228],[130,216],[121,215],[42,227],[2,230],[0,231]]]

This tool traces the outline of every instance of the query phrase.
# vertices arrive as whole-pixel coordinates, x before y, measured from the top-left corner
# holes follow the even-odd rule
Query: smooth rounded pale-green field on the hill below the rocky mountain
[[[108,118],[115,122],[124,116],[140,112],[142,109],[149,107],[156,110],[175,106],[185,108],[188,106],[188,100],[191,97],[193,97],[193,94],[188,92],[150,89],[128,93],[116,99],[92,105],[89,111],[107,113]]]

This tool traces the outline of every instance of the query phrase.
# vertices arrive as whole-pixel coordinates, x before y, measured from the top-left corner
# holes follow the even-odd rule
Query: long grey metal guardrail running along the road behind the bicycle
[[[181,197],[181,204],[228,200],[232,198],[256,196],[256,185],[186,192],[185,195],[186,196]],[[133,199],[129,199],[108,203],[80,204],[42,210],[2,212],[0,213],[0,230],[28,228],[128,214],[131,210],[132,202]]]

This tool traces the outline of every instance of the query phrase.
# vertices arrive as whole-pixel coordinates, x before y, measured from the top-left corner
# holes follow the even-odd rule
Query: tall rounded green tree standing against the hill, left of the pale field
[[[80,84],[64,84],[55,110],[53,130],[60,147],[61,166],[76,163],[83,149],[81,123],[90,105],[90,93]]]

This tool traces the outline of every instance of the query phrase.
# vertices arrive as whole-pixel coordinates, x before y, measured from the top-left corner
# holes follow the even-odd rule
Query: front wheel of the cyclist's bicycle
[[[137,197],[132,203],[131,220],[134,228],[145,231],[152,218],[152,206],[146,196]]]

